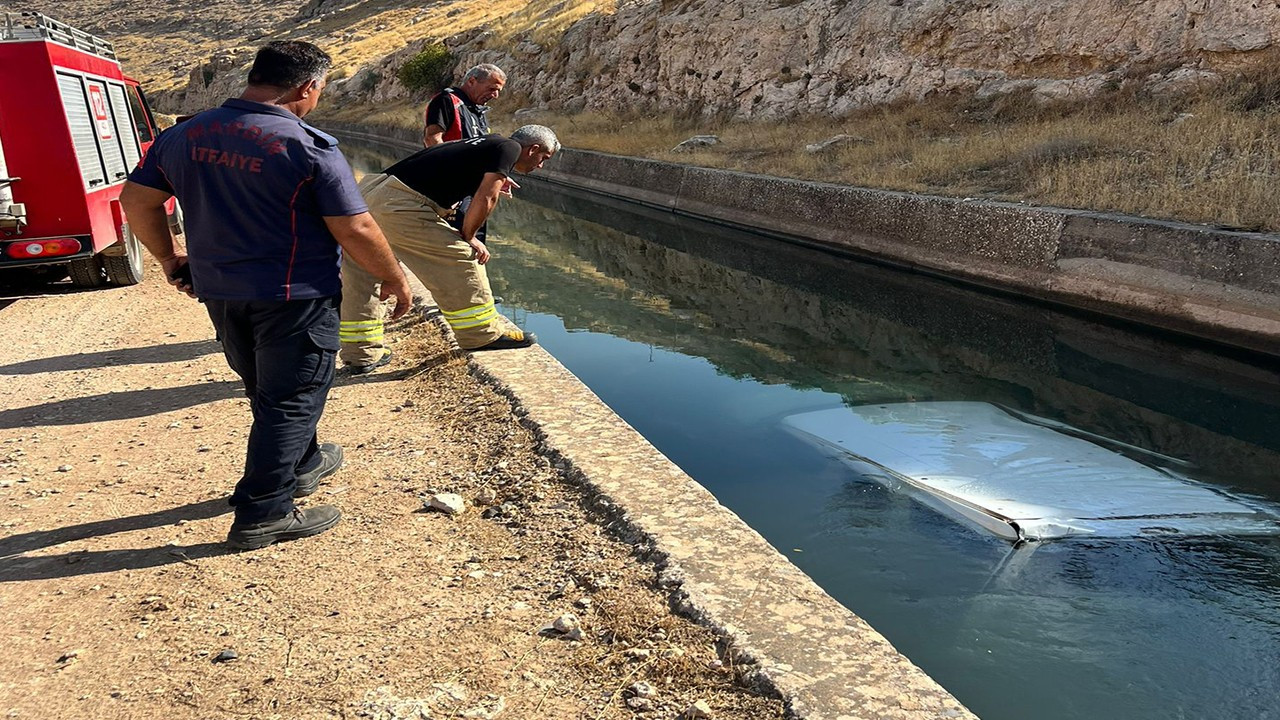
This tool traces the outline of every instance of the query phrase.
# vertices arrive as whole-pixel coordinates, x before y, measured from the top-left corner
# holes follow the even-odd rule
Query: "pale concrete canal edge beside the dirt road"
[[[797,719],[973,717],[864,620],[618,418],[541,347],[471,356],[612,529],[655,562],[678,609]]]

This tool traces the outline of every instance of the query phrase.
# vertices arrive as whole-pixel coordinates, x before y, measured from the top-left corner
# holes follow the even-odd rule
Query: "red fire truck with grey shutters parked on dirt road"
[[[0,13],[0,269],[79,287],[140,282],[143,247],[119,197],[156,132],[110,42]],[[180,231],[172,200],[168,210]]]

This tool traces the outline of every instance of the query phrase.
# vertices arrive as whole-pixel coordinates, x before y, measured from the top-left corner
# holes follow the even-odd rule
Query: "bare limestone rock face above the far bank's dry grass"
[[[1041,100],[1274,59],[1280,4],[1242,0],[620,0],[556,45],[462,38],[541,106],[842,115],[934,92]]]

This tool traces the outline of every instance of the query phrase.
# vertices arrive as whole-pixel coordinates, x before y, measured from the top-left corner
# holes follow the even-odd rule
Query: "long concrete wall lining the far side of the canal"
[[[387,135],[406,147],[420,146],[412,131],[389,131],[384,140]],[[1280,236],[867,190],[572,149],[536,177],[1280,355]]]

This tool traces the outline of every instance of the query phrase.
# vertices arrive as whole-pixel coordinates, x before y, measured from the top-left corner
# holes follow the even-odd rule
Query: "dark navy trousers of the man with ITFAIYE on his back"
[[[339,302],[338,296],[205,301],[253,411],[244,477],[230,498],[237,523],[288,515],[297,473],[320,464],[316,424],[333,384]]]

